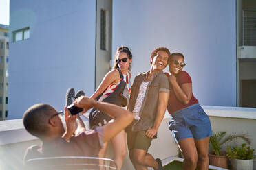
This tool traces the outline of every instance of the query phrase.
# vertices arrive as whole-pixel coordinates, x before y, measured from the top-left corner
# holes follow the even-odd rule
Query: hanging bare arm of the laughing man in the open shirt
[[[165,110],[167,109],[168,99],[169,99],[169,93],[166,93],[166,92],[159,93],[156,120],[155,120],[155,123],[153,124],[153,127],[149,128],[146,132],[146,136],[148,136],[149,138],[153,138],[153,136],[158,131],[158,127],[160,126],[160,123],[164,118]]]

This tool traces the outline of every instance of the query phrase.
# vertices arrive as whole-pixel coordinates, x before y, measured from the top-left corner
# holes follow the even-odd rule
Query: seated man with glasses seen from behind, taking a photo
[[[76,130],[77,115],[70,115],[65,107],[67,126],[65,130],[58,117],[60,112],[48,104],[35,104],[23,114],[23,125],[30,134],[42,141],[42,145],[29,147],[24,161],[51,156],[98,156],[103,142],[116,136],[131,123],[134,117],[131,112],[119,106],[95,101],[85,96],[78,97],[74,105],[79,108],[97,108],[113,117],[114,121],[96,130],[83,130],[78,136],[72,136]]]

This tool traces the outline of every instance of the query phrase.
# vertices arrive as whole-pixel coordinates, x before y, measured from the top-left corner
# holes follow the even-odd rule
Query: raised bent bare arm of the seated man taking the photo
[[[109,141],[111,138],[116,136],[116,134],[125,129],[125,127],[127,127],[134,119],[134,114],[121,108],[120,106],[95,101],[94,99],[90,99],[85,96],[76,99],[74,104],[81,108],[93,107],[109,114],[110,117],[113,117],[114,121],[111,121],[107,123],[107,125],[103,126],[104,142]]]

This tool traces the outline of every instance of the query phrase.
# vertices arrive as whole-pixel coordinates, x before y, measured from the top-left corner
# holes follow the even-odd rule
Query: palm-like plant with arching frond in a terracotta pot
[[[228,168],[228,157],[226,153],[222,150],[225,143],[233,141],[237,138],[242,138],[248,144],[250,144],[250,138],[248,134],[226,134],[226,132],[215,132],[210,137],[209,143],[209,164],[217,167]]]

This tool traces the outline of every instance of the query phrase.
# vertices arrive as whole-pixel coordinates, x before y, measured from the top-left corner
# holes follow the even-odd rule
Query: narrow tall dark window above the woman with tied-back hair
[[[107,11],[100,10],[100,49],[106,50],[107,48]]]

